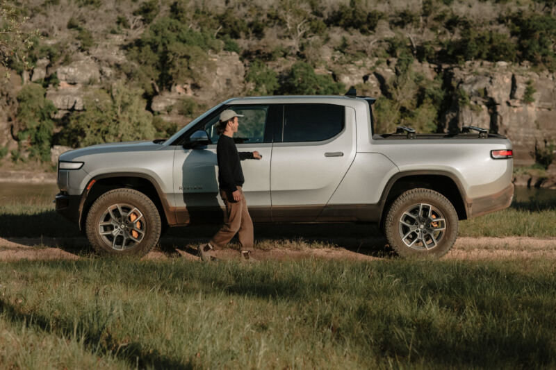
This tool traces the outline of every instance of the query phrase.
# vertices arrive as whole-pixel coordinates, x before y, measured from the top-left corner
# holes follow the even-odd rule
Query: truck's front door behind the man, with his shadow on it
[[[178,224],[219,224],[223,221],[224,203],[218,190],[216,144],[219,135],[216,126],[224,109],[232,109],[244,116],[239,117],[238,132],[234,135],[238,151],[259,151],[263,155],[261,160],[241,161],[245,177],[243,193],[253,221],[270,221],[270,106],[252,105],[222,107],[190,132],[206,131],[211,144],[196,149],[177,146],[174,151],[174,199]],[[265,135],[266,131],[269,133]]]

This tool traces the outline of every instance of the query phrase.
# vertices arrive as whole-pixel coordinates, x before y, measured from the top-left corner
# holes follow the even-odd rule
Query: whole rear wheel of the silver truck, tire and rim
[[[457,212],[442,194],[430,189],[404,192],[392,203],[384,233],[402,257],[439,258],[457,237]]]

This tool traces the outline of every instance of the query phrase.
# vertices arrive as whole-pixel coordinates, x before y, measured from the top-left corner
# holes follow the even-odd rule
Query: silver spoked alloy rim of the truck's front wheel
[[[99,218],[99,235],[111,249],[131,249],[145,238],[147,224],[138,208],[127,203],[116,203],[104,210]]]

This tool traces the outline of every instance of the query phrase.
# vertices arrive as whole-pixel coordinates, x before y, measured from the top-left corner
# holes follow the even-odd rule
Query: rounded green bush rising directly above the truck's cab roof
[[[306,62],[296,62],[281,85],[281,94],[292,95],[334,95],[343,90],[342,83],[334,82],[332,76],[316,74]]]

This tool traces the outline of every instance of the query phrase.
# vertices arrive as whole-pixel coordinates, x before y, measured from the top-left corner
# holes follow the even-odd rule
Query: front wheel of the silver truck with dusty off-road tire
[[[117,208],[117,205],[120,205],[120,208]],[[131,242],[133,242],[133,245],[122,245],[121,249],[115,249],[113,246],[107,244],[107,242],[110,242],[107,238],[113,237],[113,235],[108,234],[103,236],[101,235],[100,230],[103,228],[110,230],[110,225],[101,226],[101,224],[109,224],[110,220],[108,220],[108,222],[103,222],[101,217],[104,217],[105,219],[110,218],[109,216],[107,217],[107,215],[113,215],[112,213],[107,213],[111,212],[110,208],[113,208],[116,215],[120,213],[118,212],[118,209],[122,210],[124,215],[131,215],[132,211],[128,211],[128,213],[126,213],[126,210],[129,210],[129,208],[137,210],[136,214],[141,215],[140,219],[142,219],[142,224],[133,224],[128,220],[128,224],[131,228],[122,228],[122,232],[120,234],[122,236],[118,240],[124,239],[124,233],[126,233],[125,230],[129,230],[129,233],[125,234],[126,236],[129,236],[131,235],[133,226],[142,226],[144,233],[142,235],[135,233],[135,235],[140,235],[140,237],[138,237],[138,242],[135,239],[132,239]],[[114,217],[111,217],[111,219],[113,218]],[[124,217],[120,217],[120,219],[124,219]],[[123,220],[120,224],[125,226],[126,220]],[[99,199],[92,204],[85,221],[85,230],[90,244],[93,248],[95,248],[97,253],[103,255],[133,255],[141,257],[149,253],[149,251],[156,245],[161,235],[161,228],[161,217],[158,214],[156,205],[154,205],[151,199],[137,190],[126,188],[110,190],[109,192],[99,196]],[[115,231],[117,232],[117,230]],[[117,240],[115,241],[117,242]]]

